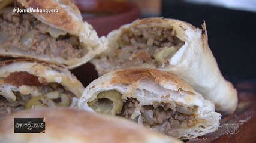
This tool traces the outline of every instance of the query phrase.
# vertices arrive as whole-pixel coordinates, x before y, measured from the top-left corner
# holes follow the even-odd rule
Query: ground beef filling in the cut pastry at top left
[[[65,60],[83,56],[85,50],[76,36],[53,29],[29,13],[12,13],[11,10],[6,8],[0,15],[0,47],[5,51]]]

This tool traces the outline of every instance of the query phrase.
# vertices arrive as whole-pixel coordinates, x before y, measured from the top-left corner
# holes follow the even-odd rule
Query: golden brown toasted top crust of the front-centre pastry
[[[110,83],[112,84],[132,84],[138,82],[146,77],[153,77],[156,83],[169,82],[172,85],[176,85],[179,89],[183,91],[188,91],[195,93],[194,89],[188,83],[179,79],[171,73],[164,71],[159,71],[156,69],[123,69],[117,70],[114,73],[113,79]]]

